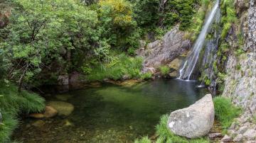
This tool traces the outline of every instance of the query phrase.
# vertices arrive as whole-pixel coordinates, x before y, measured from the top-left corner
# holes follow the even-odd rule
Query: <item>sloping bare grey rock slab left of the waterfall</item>
[[[169,64],[184,51],[191,47],[191,41],[185,39],[185,33],[178,30],[178,26],[170,30],[162,40],[156,40],[142,47],[137,55],[144,57],[143,69],[145,72],[156,72],[161,65]],[[154,73],[153,73],[154,74]]]

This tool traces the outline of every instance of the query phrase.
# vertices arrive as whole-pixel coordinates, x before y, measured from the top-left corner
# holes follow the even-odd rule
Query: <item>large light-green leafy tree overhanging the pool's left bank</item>
[[[65,62],[63,49],[92,50],[97,13],[80,1],[15,0],[14,4],[11,23],[5,28],[8,35],[0,46],[9,56],[8,77],[18,82],[18,91],[23,81],[31,81],[43,67]]]

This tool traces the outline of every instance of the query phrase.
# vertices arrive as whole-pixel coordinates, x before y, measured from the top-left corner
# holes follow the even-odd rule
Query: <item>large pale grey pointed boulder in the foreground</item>
[[[188,108],[172,112],[167,125],[174,134],[193,139],[207,135],[213,122],[213,98],[207,94]]]

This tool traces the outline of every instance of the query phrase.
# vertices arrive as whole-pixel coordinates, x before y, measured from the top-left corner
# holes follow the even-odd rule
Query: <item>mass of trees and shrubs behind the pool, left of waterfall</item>
[[[58,75],[72,71],[87,74],[90,80],[116,80],[124,74],[141,78],[138,66],[136,73],[98,73],[117,70],[110,66],[119,60],[115,55],[133,56],[139,39],[147,39],[148,33],[154,39],[177,23],[181,30],[190,28],[200,4],[198,0],[6,1],[1,13],[12,11],[9,25],[0,30],[1,79],[14,81],[21,91],[53,84]],[[120,60],[129,66],[129,57]]]

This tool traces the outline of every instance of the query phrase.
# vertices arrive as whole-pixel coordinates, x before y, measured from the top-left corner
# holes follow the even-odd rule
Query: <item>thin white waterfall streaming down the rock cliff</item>
[[[195,69],[196,64],[198,62],[200,52],[206,40],[206,35],[208,34],[210,25],[213,23],[213,20],[218,10],[219,0],[216,1],[215,5],[213,6],[213,9],[210,11],[209,16],[206,18],[206,22],[203,25],[201,33],[198,36],[198,39],[196,40],[195,44],[193,45],[191,53],[188,55],[188,57],[186,57],[186,62],[183,64],[183,67],[180,70],[180,76],[178,77],[178,79],[191,79],[191,74],[193,73],[193,70]]]

